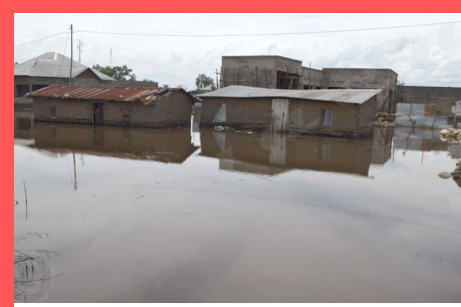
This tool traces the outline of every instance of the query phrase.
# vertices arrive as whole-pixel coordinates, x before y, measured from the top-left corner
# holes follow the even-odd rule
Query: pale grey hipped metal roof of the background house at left
[[[115,79],[89,68],[81,63],[72,61],[72,78],[80,75],[85,70],[90,70],[101,80],[114,81]],[[46,52],[42,55],[14,65],[14,75],[27,75],[30,77],[69,78],[71,73],[71,59],[59,52]]]

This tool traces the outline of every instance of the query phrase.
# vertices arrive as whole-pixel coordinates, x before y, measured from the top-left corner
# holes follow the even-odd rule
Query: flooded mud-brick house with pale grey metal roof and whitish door
[[[200,124],[284,133],[371,136],[380,92],[230,86],[198,95],[202,99]]]

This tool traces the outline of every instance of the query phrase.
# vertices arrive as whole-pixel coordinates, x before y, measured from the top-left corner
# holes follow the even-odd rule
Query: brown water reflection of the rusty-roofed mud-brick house
[[[139,129],[69,124],[34,124],[37,149],[134,160],[182,163],[198,147],[189,129]],[[75,159],[74,159],[75,160]]]

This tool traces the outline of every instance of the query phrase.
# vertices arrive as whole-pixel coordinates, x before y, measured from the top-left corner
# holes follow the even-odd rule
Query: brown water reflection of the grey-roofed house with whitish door
[[[389,131],[378,130],[375,139],[337,139],[202,130],[201,155],[219,158],[220,169],[240,172],[279,174],[297,168],[368,176],[372,161],[382,164],[390,157]]]

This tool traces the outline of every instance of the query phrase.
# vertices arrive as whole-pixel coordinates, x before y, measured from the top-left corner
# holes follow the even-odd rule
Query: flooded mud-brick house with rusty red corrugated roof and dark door
[[[196,101],[182,88],[50,86],[32,92],[35,121],[189,127]]]

